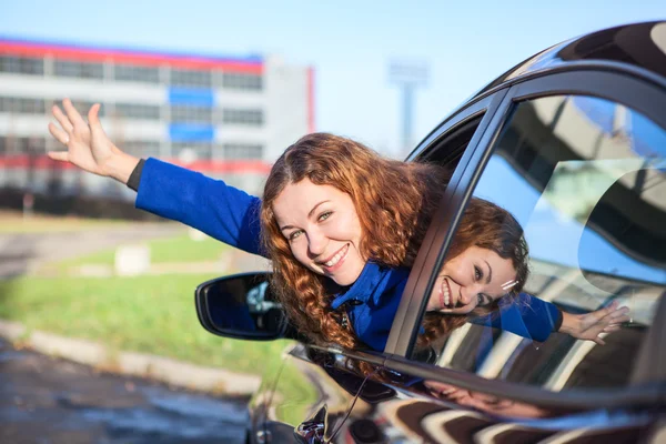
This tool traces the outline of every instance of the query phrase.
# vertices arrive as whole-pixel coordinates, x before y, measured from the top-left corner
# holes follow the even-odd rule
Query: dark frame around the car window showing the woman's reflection
[[[577,68],[577,67],[575,67]],[[492,155],[492,149],[502,133],[505,124],[515,110],[517,103],[551,95],[588,95],[610,100],[640,112],[646,118],[666,130],[666,113],[658,103],[666,103],[666,89],[655,83],[652,79],[642,78],[635,72],[627,73],[622,70],[581,67],[564,72],[545,73],[529,79],[517,79],[508,88],[501,90],[501,102],[496,103],[496,95],[483,98],[493,100],[493,108],[488,109],[488,124],[477,129],[476,143],[470,143],[463,160],[456,168],[447,189],[442,208],[428,229],[424,245],[418,252],[414,269],[403,293],[398,307],[398,317],[394,320],[389,343],[385,349],[387,355],[385,365],[400,371],[410,369],[412,374],[423,375],[444,383],[456,383],[470,389],[485,387],[488,393],[496,395],[511,395],[523,401],[548,402],[553,405],[571,405],[584,403],[588,406],[612,406],[636,403],[653,403],[664,396],[666,382],[666,361],[659,359],[658,346],[666,337],[666,302],[662,300],[655,313],[653,326],[642,344],[636,366],[633,370],[630,382],[627,386],[610,390],[576,389],[567,392],[548,392],[538,386],[528,386],[522,383],[486,380],[475,374],[456,372],[432,364],[424,364],[408,359],[412,353],[422,311],[427,300],[426,295],[433,286],[436,270],[441,266],[446,254],[451,238],[463,213],[464,206],[471,198],[474,188],[486,163]],[[655,100],[657,95],[660,100]],[[464,111],[463,111],[464,113]],[[456,114],[457,119],[461,114]],[[450,120],[451,121],[451,120]],[[484,122],[482,122],[483,124]],[[440,132],[452,129],[450,125]],[[478,133],[481,132],[481,133]],[[433,133],[431,137],[435,135]],[[428,137],[430,138],[430,137]],[[427,140],[427,139],[426,139]],[[413,158],[413,157],[412,157]],[[428,241],[430,240],[430,241]],[[408,315],[405,313],[408,312]],[[659,327],[659,325],[662,325]],[[655,385],[658,390],[655,390]]]

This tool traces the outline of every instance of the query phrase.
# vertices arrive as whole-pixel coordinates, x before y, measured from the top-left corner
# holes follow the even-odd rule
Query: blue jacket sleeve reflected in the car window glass
[[[559,330],[562,312],[551,302],[521,293],[515,300],[501,305],[500,312],[472,322],[544,342],[552,332]]]

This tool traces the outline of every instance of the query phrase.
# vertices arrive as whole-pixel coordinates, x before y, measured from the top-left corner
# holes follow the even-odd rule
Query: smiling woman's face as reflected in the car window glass
[[[493,250],[470,246],[444,264],[426,310],[470,313],[506,294],[516,284],[515,278],[511,259],[500,258]]]

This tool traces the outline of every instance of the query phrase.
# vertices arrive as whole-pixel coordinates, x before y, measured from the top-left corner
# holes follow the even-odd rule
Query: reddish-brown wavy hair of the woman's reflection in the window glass
[[[517,284],[504,297],[516,297],[529,275],[527,242],[518,221],[503,208],[483,199],[472,198],[444,262],[456,258],[471,246],[488,249],[502,259],[511,259],[516,271]],[[418,336],[416,345],[426,346],[462,326],[471,317],[495,312],[498,303],[500,300],[495,300],[492,304],[477,307],[468,314],[427,312],[423,319],[425,332]]]

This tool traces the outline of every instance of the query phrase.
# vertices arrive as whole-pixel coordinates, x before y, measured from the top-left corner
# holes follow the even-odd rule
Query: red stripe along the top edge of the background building
[[[124,52],[120,50],[93,50],[88,48],[64,47],[43,43],[19,43],[0,41],[0,53],[33,57],[41,59],[50,56],[62,60],[80,62],[127,63],[144,67],[161,67],[168,64],[172,68],[194,70],[223,70],[246,74],[262,74],[263,63],[242,60],[218,60],[196,56],[169,56],[141,52]]]

